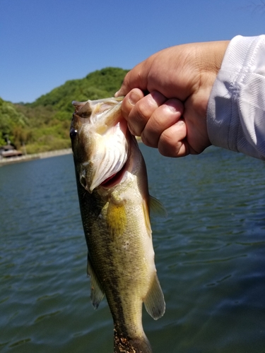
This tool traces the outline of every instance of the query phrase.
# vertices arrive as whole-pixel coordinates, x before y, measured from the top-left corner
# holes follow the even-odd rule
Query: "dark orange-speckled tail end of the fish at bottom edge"
[[[114,353],[152,353],[152,349],[146,335],[130,338],[114,329]]]

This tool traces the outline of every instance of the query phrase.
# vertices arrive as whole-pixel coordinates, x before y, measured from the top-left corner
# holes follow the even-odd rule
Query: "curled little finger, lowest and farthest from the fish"
[[[166,157],[184,157],[189,155],[189,145],[186,141],[187,126],[183,120],[167,128],[161,133],[158,150]]]

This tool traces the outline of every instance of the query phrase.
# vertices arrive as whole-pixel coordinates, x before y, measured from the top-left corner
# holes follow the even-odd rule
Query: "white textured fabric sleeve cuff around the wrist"
[[[265,160],[265,35],[234,37],[208,101],[213,145]]]

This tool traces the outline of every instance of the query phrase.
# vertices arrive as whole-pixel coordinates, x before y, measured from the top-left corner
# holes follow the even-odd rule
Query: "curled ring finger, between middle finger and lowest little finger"
[[[150,147],[157,148],[161,133],[174,125],[182,116],[184,107],[177,99],[170,99],[155,109],[151,118],[147,121],[141,139]]]

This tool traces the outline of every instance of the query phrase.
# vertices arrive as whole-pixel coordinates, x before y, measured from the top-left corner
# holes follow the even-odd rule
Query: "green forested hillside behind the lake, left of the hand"
[[[13,104],[0,98],[0,145],[6,139],[28,153],[71,147],[69,126],[73,100],[112,97],[126,74],[122,68],[103,68],[78,80],[69,80],[33,103]]]

